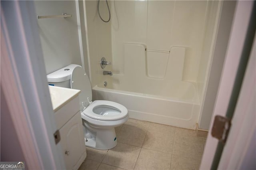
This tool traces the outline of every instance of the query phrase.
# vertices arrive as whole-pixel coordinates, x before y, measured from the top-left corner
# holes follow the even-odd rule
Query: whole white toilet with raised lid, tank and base
[[[47,75],[49,85],[81,90],[80,111],[84,127],[84,140],[88,147],[108,150],[117,144],[115,127],[124,124],[128,110],[112,101],[92,101],[92,87],[84,69],[70,64]]]

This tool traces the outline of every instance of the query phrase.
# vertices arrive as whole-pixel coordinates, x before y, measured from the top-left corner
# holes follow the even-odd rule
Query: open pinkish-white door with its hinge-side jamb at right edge
[[[248,152],[248,148],[255,150],[252,146],[255,144],[253,135],[256,113],[255,12],[254,1],[238,1],[200,169],[240,169],[254,166],[246,162],[246,158],[249,161],[255,160],[255,152]],[[211,135],[216,115],[232,119],[226,144],[221,144]]]

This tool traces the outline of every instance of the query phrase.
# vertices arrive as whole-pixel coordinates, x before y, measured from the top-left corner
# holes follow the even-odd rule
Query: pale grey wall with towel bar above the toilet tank
[[[71,63],[81,65],[75,1],[35,1],[34,4],[38,16],[62,13],[72,15],[66,19],[38,20],[46,73],[52,73]]]

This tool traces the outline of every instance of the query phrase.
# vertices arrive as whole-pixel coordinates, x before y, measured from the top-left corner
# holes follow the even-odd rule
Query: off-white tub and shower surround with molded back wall
[[[111,20],[86,1],[94,100],[127,107],[131,118],[195,128],[206,86],[221,2],[109,1]],[[106,2],[100,14],[108,18]],[[111,66],[103,75],[99,61]],[[104,81],[108,83],[104,87]]]

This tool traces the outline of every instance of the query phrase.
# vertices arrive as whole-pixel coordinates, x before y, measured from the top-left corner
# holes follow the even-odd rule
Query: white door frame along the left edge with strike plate
[[[25,156],[26,168],[65,169],[60,143],[55,144],[53,136],[57,128],[34,2],[0,3],[1,91]]]

